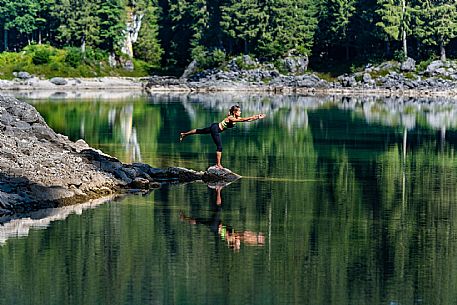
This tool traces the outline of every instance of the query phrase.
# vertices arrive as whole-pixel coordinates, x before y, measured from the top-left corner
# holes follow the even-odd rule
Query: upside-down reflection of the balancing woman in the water
[[[212,232],[217,234],[222,240],[225,240],[227,242],[227,245],[234,250],[239,250],[241,247],[241,243],[254,246],[263,246],[263,244],[265,243],[265,236],[262,232],[256,233],[249,230],[237,232],[231,226],[224,225],[222,223],[221,190],[225,186],[226,184],[208,185],[209,188],[212,188],[216,191],[216,201],[211,203],[211,218],[192,218],[186,216],[182,211],[180,211],[179,213],[179,218],[181,219],[181,221],[186,221],[190,224],[204,224],[209,226]]]

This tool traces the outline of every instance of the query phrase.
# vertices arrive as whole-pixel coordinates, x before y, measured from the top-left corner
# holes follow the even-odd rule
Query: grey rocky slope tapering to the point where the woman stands
[[[162,183],[240,178],[214,168],[197,172],[124,164],[83,140],[55,133],[33,106],[1,94],[0,131],[0,216],[145,192]]]

